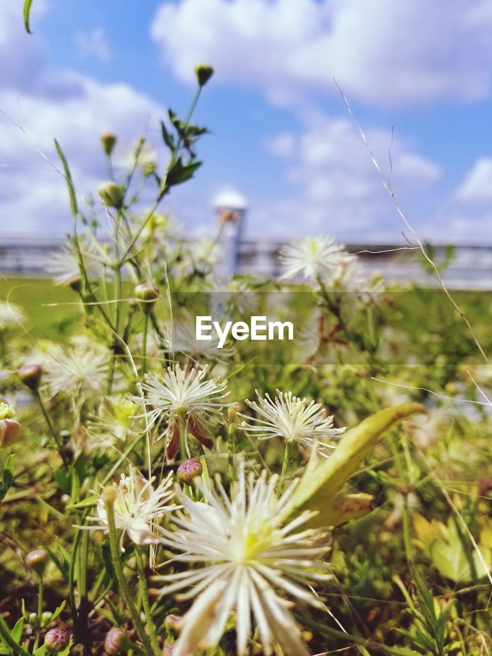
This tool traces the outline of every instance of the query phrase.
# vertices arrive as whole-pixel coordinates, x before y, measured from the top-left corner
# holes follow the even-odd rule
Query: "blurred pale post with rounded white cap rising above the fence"
[[[239,269],[239,245],[248,203],[242,194],[230,190],[217,194],[213,207],[222,226],[220,242],[226,251],[226,275],[232,277]]]

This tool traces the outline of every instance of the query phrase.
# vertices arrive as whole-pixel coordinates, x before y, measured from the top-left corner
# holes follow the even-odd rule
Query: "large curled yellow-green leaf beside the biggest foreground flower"
[[[402,419],[418,413],[426,413],[420,403],[404,403],[380,410],[349,430],[329,459],[320,462],[313,451],[284,516],[298,510],[316,510],[318,514],[310,524],[329,526],[335,497],[382,434]]]

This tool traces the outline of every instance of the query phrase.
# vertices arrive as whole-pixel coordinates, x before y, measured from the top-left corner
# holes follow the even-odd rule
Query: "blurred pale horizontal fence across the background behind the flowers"
[[[64,239],[53,237],[0,237],[0,274],[43,276],[52,251],[63,243]],[[280,242],[243,240],[237,248],[239,272],[279,276]],[[359,253],[361,261],[371,274],[379,273],[388,282],[436,284],[434,277],[424,272],[419,251],[396,250],[401,245],[392,244],[350,244],[347,248],[351,253],[371,251]],[[444,256],[445,247],[435,247],[435,260],[440,262]],[[492,289],[492,246],[457,247],[443,278],[453,289]]]

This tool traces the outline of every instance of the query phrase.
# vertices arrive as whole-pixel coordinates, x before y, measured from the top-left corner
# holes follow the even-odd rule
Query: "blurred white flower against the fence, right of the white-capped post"
[[[330,280],[348,254],[332,237],[302,237],[283,246],[280,260],[285,271],[281,279],[287,280],[302,274],[304,279]]]

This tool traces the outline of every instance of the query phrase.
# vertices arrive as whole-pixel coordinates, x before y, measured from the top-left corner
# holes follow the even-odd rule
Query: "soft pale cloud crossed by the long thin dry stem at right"
[[[396,194],[415,209],[415,190],[422,197],[426,192],[432,193],[441,178],[440,167],[413,152],[400,136],[395,136],[392,143],[390,131],[372,128],[366,131],[366,136],[384,179],[389,179]],[[388,156],[390,145],[392,167]],[[403,228],[350,119],[325,117],[303,134],[281,133],[270,138],[266,148],[287,161],[293,197],[268,209],[270,216],[279,216],[284,231],[289,224],[292,230],[299,231],[300,216],[304,232],[329,232],[351,241],[383,236],[387,239],[388,233],[398,234]],[[281,229],[271,219],[266,222],[264,212],[257,215],[255,223]]]

